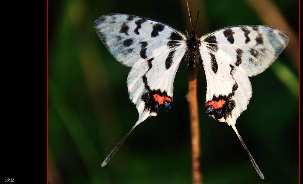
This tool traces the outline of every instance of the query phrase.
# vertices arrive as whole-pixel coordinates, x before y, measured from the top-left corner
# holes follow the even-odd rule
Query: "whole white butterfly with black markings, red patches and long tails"
[[[176,76],[187,59],[189,69],[200,64],[204,72],[206,113],[233,128],[264,179],[235,124],[252,96],[248,77],[263,72],[281,54],[289,41],[284,31],[265,25],[237,25],[197,38],[192,23],[188,35],[160,21],[117,13],[100,16],[94,28],[115,59],[132,67],[128,94],[139,113],[138,121],[101,166],[139,123],[156,116],[161,106],[165,111],[170,109]]]

